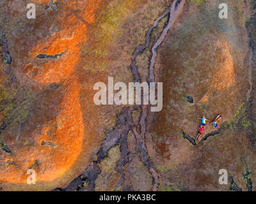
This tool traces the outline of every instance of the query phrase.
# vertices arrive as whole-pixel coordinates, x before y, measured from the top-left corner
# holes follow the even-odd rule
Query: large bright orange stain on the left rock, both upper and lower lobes
[[[34,2],[46,3],[48,1]],[[32,70],[38,67],[41,69],[34,75],[25,73],[26,76],[20,77],[23,84],[26,84],[24,79],[31,78],[31,80],[41,85],[60,82],[63,87],[67,87],[67,90],[57,107],[60,108],[57,117],[49,120],[47,124],[43,123],[41,129],[35,128],[33,132],[29,133],[29,136],[32,138],[31,141],[33,140],[34,142],[33,146],[29,147],[26,143],[29,143],[29,139],[22,147],[18,148],[15,141],[9,137],[8,140],[10,140],[9,143],[12,143],[13,153],[7,155],[5,161],[13,160],[15,164],[5,165],[4,170],[0,170],[1,182],[26,184],[26,179],[28,178],[26,172],[37,159],[40,161],[40,164],[38,170],[36,170],[36,182],[50,182],[59,179],[77,161],[84,148],[84,143],[88,147],[92,147],[92,142],[95,142],[96,131],[92,131],[90,128],[96,128],[95,126],[98,123],[97,111],[100,111],[100,109],[93,110],[95,105],[93,104],[92,85],[87,87],[90,90],[84,93],[84,90],[81,90],[81,79],[86,80],[86,77],[79,76],[80,78],[78,78],[76,69],[81,57],[81,43],[88,40],[86,36],[86,23],[93,22],[95,10],[97,10],[99,4],[100,1],[97,1],[97,3],[91,1],[86,5],[79,5],[79,8],[77,8],[78,6],[74,1],[61,4],[62,12],[60,16],[54,16],[56,19],[52,20],[53,24],[56,23],[58,31],[52,33],[47,40],[38,41],[37,45],[29,53],[31,62],[26,67]],[[56,55],[63,52],[65,54],[60,59],[36,59],[36,55],[39,53]],[[15,63],[17,65],[17,62]],[[91,80],[90,77],[88,78]],[[92,82],[94,80],[95,82],[99,80],[99,76],[95,76]],[[86,105],[83,105],[83,107],[81,107],[81,94],[84,100],[89,100],[84,102]],[[51,106],[51,104],[49,105]],[[47,107],[45,108],[45,111],[47,111]],[[86,130],[85,134],[84,115],[88,113],[88,119],[86,119],[88,121],[86,122],[89,125],[86,127],[88,130]],[[42,113],[43,116],[44,113]],[[90,124],[93,121],[94,124]],[[52,136],[49,134],[49,131],[51,131],[54,124],[56,124],[56,130],[54,131],[54,136]],[[33,125],[35,126],[36,124],[33,124],[33,121],[31,121],[31,126]],[[40,133],[38,133],[39,129]],[[6,134],[8,135],[8,133]],[[89,136],[92,138],[88,138]],[[46,143],[46,145],[42,145],[42,143]]]

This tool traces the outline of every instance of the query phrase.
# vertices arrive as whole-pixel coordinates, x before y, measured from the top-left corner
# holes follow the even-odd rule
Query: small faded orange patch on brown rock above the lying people
[[[227,41],[217,41],[216,43],[216,70],[214,71],[210,87],[212,89],[208,91],[200,102],[207,103],[209,96],[214,91],[224,91],[234,85],[236,74],[234,72],[234,63],[230,50],[228,48]]]

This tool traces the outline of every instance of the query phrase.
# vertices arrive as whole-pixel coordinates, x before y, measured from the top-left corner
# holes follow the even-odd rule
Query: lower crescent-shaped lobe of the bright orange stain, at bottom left
[[[81,106],[79,104],[79,85],[77,82],[70,87],[67,95],[63,98],[61,112],[56,119],[45,125],[36,136],[35,130],[32,135],[36,136],[34,147],[22,147],[19,149],[19,157],[7,156],[19,165],[19,169],[10,166],[8,173],[1,171],[0,180],[3,182],[26,183],[26,172],[31,164],[38,159],[39,168],[36,171],[38,182],[55,180],[63,175],[76,161],[81,153],[84,137],[84,124]],[[49,135],[52,124],[56,124],[54,136]],[[42,142],[50,141],[51,145],[42,145]],[[17,152],[13,152],[16,154]]]

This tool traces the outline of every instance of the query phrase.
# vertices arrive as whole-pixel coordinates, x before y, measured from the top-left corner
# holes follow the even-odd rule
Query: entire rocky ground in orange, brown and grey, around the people
[[[0,3],[3,191],[255,190],[256,1],[33,3]],[[163,110],[96,106],[108,77],[163,82]]]

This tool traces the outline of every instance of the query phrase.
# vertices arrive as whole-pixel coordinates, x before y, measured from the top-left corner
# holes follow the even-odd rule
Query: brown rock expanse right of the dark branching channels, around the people
[[[180,134],[183,130],[195,138],[200,124],[197,118],[203,115],[211,122],[221,114],[220,127],[244,111],[241,107],[250,89],[252,66],[244,25],[246,8],[251,5],[249,1],[228,1],[228,19],[222,20],[218,18],[220,3],[207,1],[200,11],[187,4],[179,24],[159,50],[158,81],[164,84],[164,103],[163,110],[152,116],[147,147],[162,178],[159,189],[163,191],[228,190],[230,183],[218,183],[222,168],[244,191],[242,173],[246,168],[255,178],[255,146],[246,135],[252,125],[247,115],[243,115],[242,124],[197,142],[195,147]],[[186,96],[192,96],[194,103],[188,103]],[[214,130],[207,122],[205,135]]]

